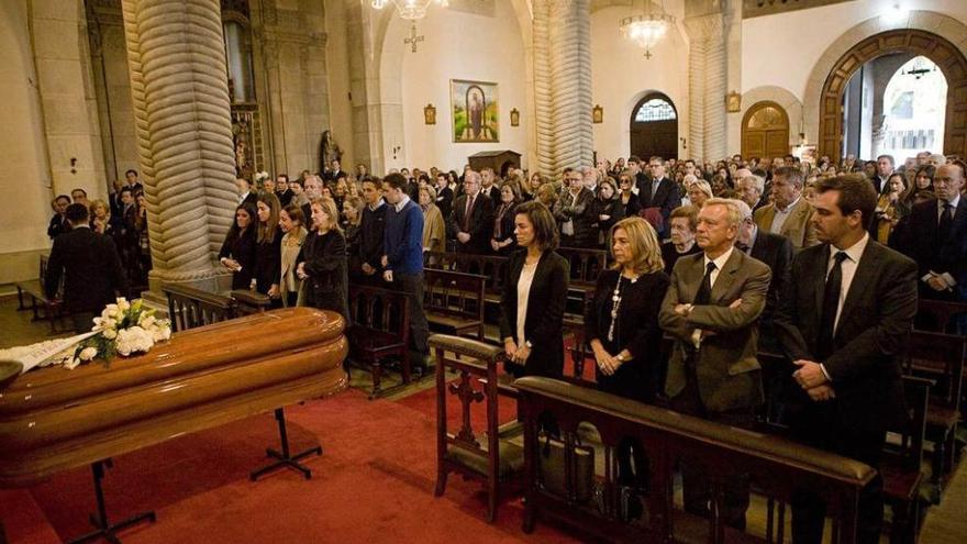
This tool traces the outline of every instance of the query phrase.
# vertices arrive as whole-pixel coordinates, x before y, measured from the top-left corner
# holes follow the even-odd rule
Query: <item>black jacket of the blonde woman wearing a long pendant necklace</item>
[[[585,340],[599,340],[611,355],[622,349],[632,359],[622,364],[611,376],[598,375],[598,386],[608,392],[630,399],[651,402],[659,387],[662,375],[662,327],[658,311],[668,290],[669,278],[664,271],[645,274],[632,284],[622,279],[621,307],[614,326],[614,340],[608,341],[611,327],[611,308],[618,270],[603,270],[598,276],[594,298],[585,313]]]

